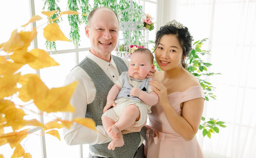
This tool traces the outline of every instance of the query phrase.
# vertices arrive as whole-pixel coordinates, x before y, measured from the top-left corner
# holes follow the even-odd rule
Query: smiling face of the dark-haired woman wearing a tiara
[[[175,35],[164,35],[155,48],[155,59],[161,70],[182,67],[182,48]]]

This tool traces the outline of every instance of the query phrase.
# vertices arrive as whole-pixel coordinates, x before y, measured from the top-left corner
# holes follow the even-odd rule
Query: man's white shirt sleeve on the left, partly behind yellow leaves
[[[86,73],[86,72],[85,72]],[[87,74],[86,74],[87,75]],[[80,77],[83,78],[83,77]],[[67,76],[64,85],[69,85],[74,81],[79,81],[78,86],[74,90],[74,93],[70,99],[70,104],[76,109],[74,113],[63,112],[62,120],[71,121],[74,118],[84,118],[87,108],[87,86],[86,80],[79,79],[72,76]],[[98,125],[97,132],[82,126],[78,123],[73,123],[70,129],[63,128],[63,134],[65,142],[68,145],[78,144],[102,144],[110,142],[112,139],[108,137],[103,126]]]

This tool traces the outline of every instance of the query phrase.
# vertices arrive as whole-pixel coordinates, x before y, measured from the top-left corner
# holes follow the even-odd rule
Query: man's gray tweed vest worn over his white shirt
[[[127,66],[121,58],[114,55],[112,55],[112,57],[117,66],[119,75],[124,71],[128,71]],[[92,103],[87,105],[85,117],[92,118],[96,125],[102,125],[101,116],[103,114],[103,108],[107,102],[108,92],[111,87],[114,86],[114,83],[99,65],[88,57],[83,59],[77,66],[81,67],[88,74],[96,87],[95,99]],[[109,150],[107,148],[109,143],[89,145],[89,148],[92,152],[102,156],[112,158],[132,158],[141,142],[140,134],[146,140],[145,127],[143,127],[140,132],[124,134],[124,146],[116,147],[115,150]]]

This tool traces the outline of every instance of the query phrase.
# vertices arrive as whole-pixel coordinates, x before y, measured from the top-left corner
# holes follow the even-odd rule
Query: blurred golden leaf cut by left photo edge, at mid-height
[[[16,83],[19,81],[20,73],[0,77],[0,99],[11,96],[18,91]]]

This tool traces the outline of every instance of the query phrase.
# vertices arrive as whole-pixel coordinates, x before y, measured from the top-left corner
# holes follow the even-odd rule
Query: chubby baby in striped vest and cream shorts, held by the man
[[[147,113],[151,112],[151,106],[158,102],[158,95],[150,88],[150,78],[146,78],[155,68],[153,59],[148,49],[139,48],[134,51],[128,72],[123,72],[110,89],[101,117],[107,134],[113,138],[108,149],[122,147],[124,139],[121,131],[134,125],[134,122],[135,127],[142,126],[146,122]],[[109,109],[111,106],[113,108]]]

